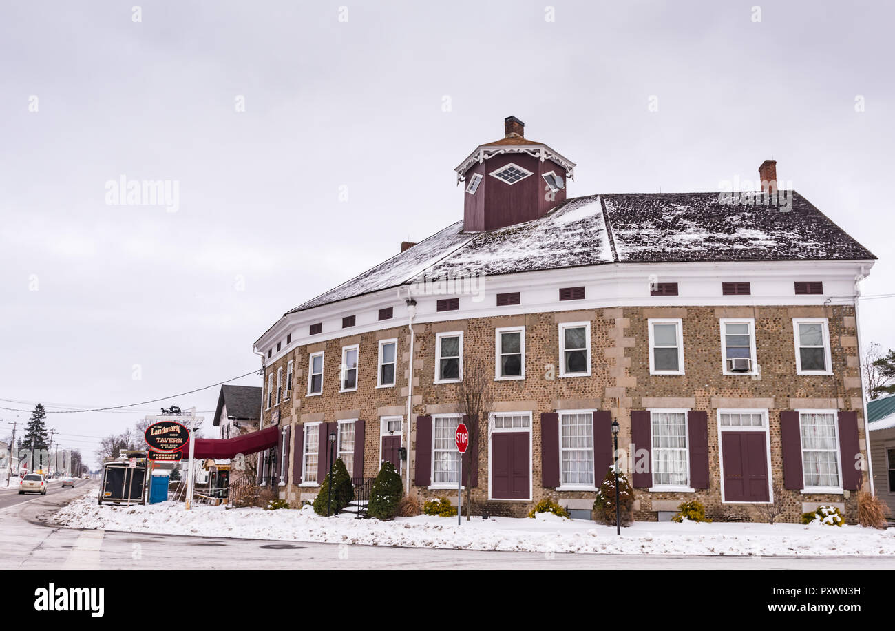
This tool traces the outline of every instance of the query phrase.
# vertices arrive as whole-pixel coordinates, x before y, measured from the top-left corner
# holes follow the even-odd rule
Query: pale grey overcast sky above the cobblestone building
[[[453,168],[507,115],[578,164],[570,196],[717,191],[775,158],[880,257],[864,293],[893,292],[891,7],[343,3],[0,4],[0,406],[257,370],[285,311],[462,217]],[[177,203],[107,203],[122,176]],[[895,347],[893,306],[864,303],[865,342]],[[217,393],[164,405],[217,435]],[[160,405],[48,426],[95,466]]]

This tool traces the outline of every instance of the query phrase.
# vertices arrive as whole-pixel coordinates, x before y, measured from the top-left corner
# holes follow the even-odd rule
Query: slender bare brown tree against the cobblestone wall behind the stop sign
[[[478,454],[479,443],[482,439],[482,428],[488,427],[488,414],[491,411],[493,393],[491,384],[494,379],[494,367],[481,358],[472,357],[464,362],[463,380],[456,388],[456,413],[463,414],[466,427],[469,430],[469,447],[464,455],[464,472],[466,484],[466,521],[472,514],[472,473],[473,466],[478,467],[478,458],[473,460],[473,454]]]

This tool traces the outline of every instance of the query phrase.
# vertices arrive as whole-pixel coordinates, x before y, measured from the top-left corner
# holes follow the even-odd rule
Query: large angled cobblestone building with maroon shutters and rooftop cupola
[[[477,509],[552,498],[588,516],[618,420],[637,519],[691,499],[736,518],[780,499],[790,522],[819,503],[854,522],[857,280],[874,255],[778,192],[773,160],[762,192],[736,194],[567,198],[574,168],[507,118],[456,167],[462,220],[255,342],[280,496],[313,497],[334,434],[355,478],[388,459],[422,499],[455,497],[457,384],[475,358],[494,400],[464,460]]]

